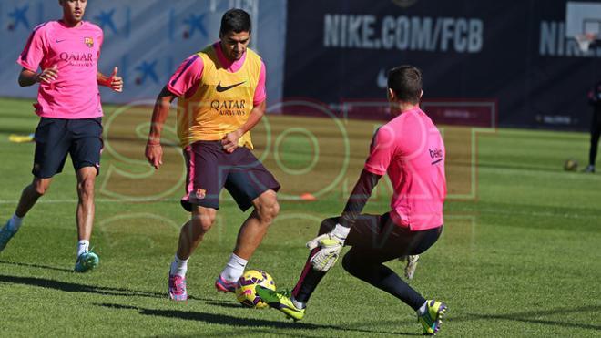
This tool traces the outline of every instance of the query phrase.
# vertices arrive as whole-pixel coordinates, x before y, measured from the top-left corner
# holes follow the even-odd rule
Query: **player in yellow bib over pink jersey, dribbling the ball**
[[[219,193],[227,189],[242,211],[253,210],[215,281],[219,292],[235,292],[254,251],[278,215],[280,183],[251,152],[250,130],[265,114],[265,64],[248,48],[252,25],[244,10],[221,16],[219,41],[189,56],[158,94],[145,155],[159,169],[160,143],[169,107],[178,99],[178,138],[186,161],[181,206],[190,219],[179,231],[178,251],[168,273],[168,294],[188,300],[188,260],[215,223]]]

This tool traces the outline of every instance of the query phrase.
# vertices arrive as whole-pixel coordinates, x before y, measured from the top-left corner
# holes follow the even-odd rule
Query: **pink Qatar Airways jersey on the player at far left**
[[[97,71],[103,34],[83,21],[67,27],[60,21],[36,26],[16,61],[33,72],[57,67],[55,81],[39,83],[36,114],[42,118],[98,118],[102,116]]]

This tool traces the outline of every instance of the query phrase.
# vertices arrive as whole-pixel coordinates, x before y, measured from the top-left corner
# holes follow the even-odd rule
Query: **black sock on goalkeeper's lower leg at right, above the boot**
[[[356,258],[344,257],[342,266],[351,275],[363,282],[369,282],[376,288],[392,294],[405,304],[418,311],[426,301],[421,294],[413,290],[401,277],[382,263],[357,260]]]

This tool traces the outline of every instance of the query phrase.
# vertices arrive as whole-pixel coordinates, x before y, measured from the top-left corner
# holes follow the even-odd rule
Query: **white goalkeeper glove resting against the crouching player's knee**
[[[325,272],[334,266],[341,255],[341,250],[349,231],[349,228],[336,224],[336,227],[334,227],[331,232],[324,233],[307,242],[307,248],[309,248],[309,250],[320,248],[320,250],[311,257],[313,269]]]

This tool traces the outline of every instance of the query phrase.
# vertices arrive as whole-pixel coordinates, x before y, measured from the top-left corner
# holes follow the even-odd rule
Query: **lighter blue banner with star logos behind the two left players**
[[[101,89],[104,102],[153,100],[179,63],[219,39],[221,15],[229,8],[253,20],[250,47],[267,66],[270,100],[280,101],[283,81],[286,1],[265,0],[101,0],[88,1],[85,20],[100,26],[105,41],[99,70],[119,67],[122,94]],[[56,0],[0,2],[0,96],[36,97],[37,87],[18,87],[16,59],[34,27],[62,16]]]

